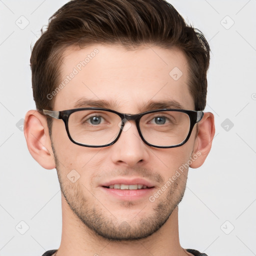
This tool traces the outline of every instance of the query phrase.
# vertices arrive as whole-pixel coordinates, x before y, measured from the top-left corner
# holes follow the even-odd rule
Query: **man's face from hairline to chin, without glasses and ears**
[[[78,63],[95,48],[98,53],[80,66]],[[57,93],[53,110],[92,106],[81,103],[88,99],[104,100],[109,105],[102,107],[129,114],[151,110],[146,108],[149,101],[176,101],[184,109],[194,109],[187,86],[187,61],[174,48],[145,46],[126,50],[110,45],[69,48],[60,68],[60,82],[74,68],[78,73]],[[178,79],[169,74],[173,68],[182,71]],[[69,140],[62,120],[54,119],[51,141],[61,191],[73,212],[95,233],[115,240],[146,237],[164,224],[183,196],[187,169],[171,184],[166,182],[192,156],[195,136],[194,127],[182,146],[150,147],[141,140],[135,122],[130,121],[128,129],[122,131],[113,145],[83,147]],[[105,187],[116,183],[146,183],[152,187],[135,190]],[[149,200],[159,189],[162,191],[159,196]]]

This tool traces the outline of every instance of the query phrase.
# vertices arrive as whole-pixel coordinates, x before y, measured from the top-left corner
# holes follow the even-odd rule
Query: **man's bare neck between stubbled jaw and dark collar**
[[[176,207],[167,221],[152,235],[132,241],[109,241],[87,228],[69,208],[63,196],[62,202],[62,235],[56,256],[87,255],[191,255],[179,244],[178,208]]]

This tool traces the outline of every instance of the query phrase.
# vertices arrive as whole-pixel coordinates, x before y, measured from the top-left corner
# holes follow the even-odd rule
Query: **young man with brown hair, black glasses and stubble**
[[[43,255],[205,256],[178,238],[188,167],[214,135],[202,33],[164,0],[72,0],[30,63],[25,138],[61,188],[61,243]]]

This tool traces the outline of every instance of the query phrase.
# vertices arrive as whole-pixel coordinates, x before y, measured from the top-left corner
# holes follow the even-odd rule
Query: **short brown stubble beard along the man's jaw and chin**
[[[86,230],[92,231],[93,234],[104,238],[108,241],[131,241],[140,240],[155,233],[167,221],[172,211],[182,200],[186,186],[186,175],[182,173],[176,178],[173,183],[165,190],[153,203],[155,206],[151,209],[149,200],[147,205],[150,205],[151,213],[146,217],[135,217],[133,221],[124,221],[121,218],[114,217],[114,212],[111,214],[104,206],[96,207],[95,205],[103,205],[104,202],[97,204],[89,203],[85,198],[82,190],[85,190],[88,197],[92,197],[90,201],[97,201],[93,195],[87,191],[85,186],[78,181],[70,182],[60,169],[60,164],[56,157],[56,153],[52,146],[55,156],[56,170],[60,184],[61,193],[64,196],[67,204],[73,213],[85,225]],[[64,180],[65,179],[65,180]],[[129,210],[132,207],[132,201],[125,201],[122,203],[123,207]],[[141,207],[142,209],[143,207]],[[146,206],[143,209],[145,212]],[[119,217],[119,216],[118,216]]]

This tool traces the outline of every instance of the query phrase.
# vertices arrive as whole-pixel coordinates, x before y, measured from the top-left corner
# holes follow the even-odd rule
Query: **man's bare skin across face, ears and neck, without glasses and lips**
[[[63,54],[61,81],[95,48],[95,57],[54,96],[53,110],[75,108],[83,97],[113,101],[105,107],[122,113],[150,110],[142,108],[149,100],[175,100],[182,108],[194,110],[187,87],[187,60],[176,48],[70,47]],[[169,75],[174,67],[182,71],[178,80]],[[153,202],[148,196],[136,200],[114,197],[101,184],[119,177],[144,178],[154,185],[153,195],[196,153],[200,155],[190,167],[204,162],[214,135],[213,115],[204,113],[197,126],[198,132],[195,125],[184,145],[154,148],[141,140],[130,121],[116,143],[90,148],[72,143],[62,120],[53,119],[50,138],[45,116],[28,111],[24,126],[28,149],[44,168],[56,167],[60,181],[62,237],[56,255],[190,255],[179,244],[177,214],[188,168]],[[79,175],[75,182],[67,178],[73,169]]]

